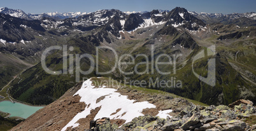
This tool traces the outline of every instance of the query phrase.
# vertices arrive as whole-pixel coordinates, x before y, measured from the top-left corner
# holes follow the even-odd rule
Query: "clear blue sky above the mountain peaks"
[[[256,12],[255,0],[0,0],[0,7],[20,9],[25,13],[74,12],[87,13],[103,9],[121,11],[152,11],[153,9],[172,10],[176,6],[188,11],[206,13]]]

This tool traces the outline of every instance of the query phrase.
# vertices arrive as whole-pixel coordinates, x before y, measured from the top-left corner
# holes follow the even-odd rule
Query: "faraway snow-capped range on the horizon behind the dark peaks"
[[[150,11],[125,11],[124,13],[127,15],[130,15],[131,13],[148,13]],[[160,13],[162,12],[169,12],[169,10],[159,10]],[[49,17],[49,18],[55,18],[57,20],[59,19],[65,19],[65,18],[77,18],[81,15],[87,14],[86,12],[68,12],[68,13],[41,13],[41,14],[32,14],[28,13],[26,14],[22,10],[13,10],[10,8],[0,8],[0,13],[4,13],[6,15],[11,15],[12,17],[18,17],[18,18],[24,18],[26,20],[40,20],[43,17]],[[228,24],[228,21],[232,21],[238,18],[248,18],[250,20],[256,20],[256,13],[250,12],[250,13],[231,13],[231,14],[222,14],[222,13],[197,13],[196,11],[188,11],[191,15],[194,15],[195,17],[203,20],[207,24],[212,24],[215,22],[224,22],[224,24]]]

